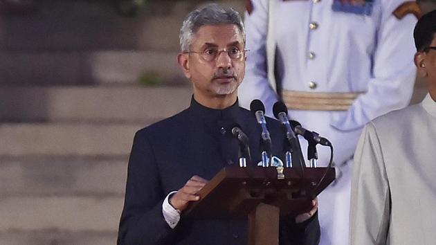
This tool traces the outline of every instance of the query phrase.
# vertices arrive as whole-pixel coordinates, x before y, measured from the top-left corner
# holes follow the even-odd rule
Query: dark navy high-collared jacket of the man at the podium
[[[277,120],[266,118],[274,156],[282,158],[284,134]],[[253,164],[260,161],[261,129],[255,116],[237,105],[210,109],[192,99],[188,109],[136,132],[129,158],[118,245],[246,244],[246,220],[183,219],[172,229],[162,215],[167,194],[193,175],[212,179],[219,170],[238,164],[238,142],[231,128],[239,125],[250,140]],[[282,158],[283,159],[283,158]],[[280,244],[318,244],[314,215],[302,224],[280,219]]]

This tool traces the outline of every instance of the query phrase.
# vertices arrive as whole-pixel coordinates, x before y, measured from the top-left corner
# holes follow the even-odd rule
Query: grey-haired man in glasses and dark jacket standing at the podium
[[[178,62],[192,82],[190,107],[144,129],[134,138],[129,158],[125,206],[118,244],[246,244],[246,220],[193,221],[181,218],[188,203],[222,167],[238,160],[239,125],[250,139],[253,162],[260,161],[261,129],[237,103],[245,73],[245,33],[235,10],[210,4],[183,21]],[[272,154],[282,156],[280,123],[266,119]],[[313,208],[298,217],[281,217],[280,244],[318,244]]]

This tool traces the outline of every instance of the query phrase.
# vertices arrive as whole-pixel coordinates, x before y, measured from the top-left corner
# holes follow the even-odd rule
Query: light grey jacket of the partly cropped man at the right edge
[[[436,243],[436,102],[376,118],[354,156],[351,244]]]

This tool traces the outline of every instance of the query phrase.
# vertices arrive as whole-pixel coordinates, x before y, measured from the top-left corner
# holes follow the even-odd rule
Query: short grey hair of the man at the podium
[[[192,38],[201,26],[217,26],[220,24],[235,24],[242,33],[245,43],[245,28],[239,13],[233,8],[210,3],[188,14],[180,29],[180,48],[182,52],[189,51]]]

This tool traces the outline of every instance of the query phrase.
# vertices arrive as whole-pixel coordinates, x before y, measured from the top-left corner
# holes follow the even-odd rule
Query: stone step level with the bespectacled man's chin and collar
[[[0,121],[152,123],[188,107],[191,95],[189,86],[0,87]]]

